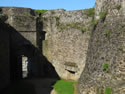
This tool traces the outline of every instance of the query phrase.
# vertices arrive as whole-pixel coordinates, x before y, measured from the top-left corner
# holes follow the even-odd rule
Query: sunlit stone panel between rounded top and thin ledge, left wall
[[[26,15],[8,15],[8,20],[6,21],[17,31],[30,31],[36,32],[36,17],[26,16]]]

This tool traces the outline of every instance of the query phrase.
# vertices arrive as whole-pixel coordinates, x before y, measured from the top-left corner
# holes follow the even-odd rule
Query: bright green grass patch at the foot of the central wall
[[[59,80],[53,87],[57,94],[74,94],[73,84],[75,83],[74,81]]]

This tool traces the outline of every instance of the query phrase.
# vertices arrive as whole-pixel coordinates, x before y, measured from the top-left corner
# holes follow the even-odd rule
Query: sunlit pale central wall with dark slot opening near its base
[[[50,10],[43,16],[43,31],[46,32],[43,54],[60,78],[79,79],[85,66],[91,20],[85,10]]]

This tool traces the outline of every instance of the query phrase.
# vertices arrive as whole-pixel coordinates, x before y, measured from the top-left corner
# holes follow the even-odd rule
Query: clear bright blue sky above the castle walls
[[[1,0],[0,6],[25,7],[32,9],[80,10],[93,8],[95,0]]]

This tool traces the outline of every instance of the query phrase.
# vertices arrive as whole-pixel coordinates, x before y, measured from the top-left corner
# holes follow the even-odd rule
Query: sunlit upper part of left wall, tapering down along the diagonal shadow
[[[30,8],[1,7],[2,14],[7,15],[6,23],[22,34],[34,46],[37,46],[37,17]]]

